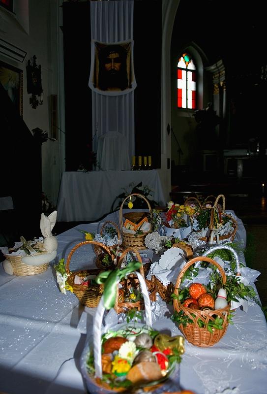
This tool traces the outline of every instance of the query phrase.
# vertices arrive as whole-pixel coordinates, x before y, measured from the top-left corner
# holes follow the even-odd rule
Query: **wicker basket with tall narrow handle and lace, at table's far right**
[[[219,204],[220,199],[222,205]],[[218,244],[226,239],[233,241],[237,232],[237,221],[232,215],[225,213],[224,195],[220,194],[212,206],[206,205],[197,217],[199,232],[205,232],[199,239]]]

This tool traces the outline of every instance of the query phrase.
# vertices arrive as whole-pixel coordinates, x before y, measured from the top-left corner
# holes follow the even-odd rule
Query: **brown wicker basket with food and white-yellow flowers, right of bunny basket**
[[[101,272],[101,269],[84,269],[75,272],[70,271],[70,261],[73,253],[78,248],[88,244],[101,247],[105,253],[111,256],[110,250],[105,245],[95,241],[83,241],[71,249],[65,264],[64,259],[61,259],[59,264],[54,265],[54,268],[57,273],[60,291],[66,294],[66,290],[69,290],[79,299],[82,305],[94,308],[98,305],[104,290],[104,285],[99,285],[95,281],[95,278]]]

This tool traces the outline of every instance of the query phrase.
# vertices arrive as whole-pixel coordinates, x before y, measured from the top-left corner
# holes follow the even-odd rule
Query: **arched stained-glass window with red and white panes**
[[[177,106],[196,109],[196,101],[196,66],[189,53],[183,53],[177,65]]]

